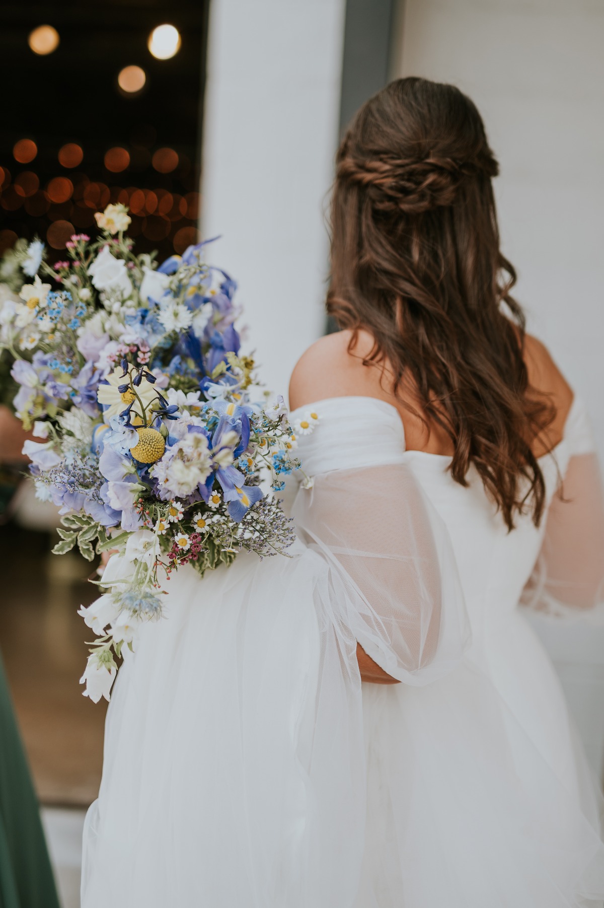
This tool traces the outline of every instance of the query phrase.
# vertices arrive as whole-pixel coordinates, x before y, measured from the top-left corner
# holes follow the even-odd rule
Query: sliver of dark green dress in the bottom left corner
[[[0,908],[59,908],[0,656]]]

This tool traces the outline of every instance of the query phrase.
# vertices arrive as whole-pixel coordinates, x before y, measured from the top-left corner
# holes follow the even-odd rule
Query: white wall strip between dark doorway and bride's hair
[[[211,0],[201,225],[239,281],[261,378],[287,394],[323,332],[344,0]]]

